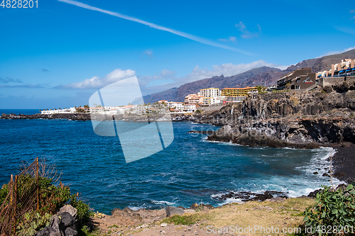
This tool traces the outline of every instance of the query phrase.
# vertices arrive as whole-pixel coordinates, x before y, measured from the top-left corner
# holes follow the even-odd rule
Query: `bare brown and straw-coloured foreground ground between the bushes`
[[[211,208],[197,206],[195,210],[182,210],[173,215],[172,207],[160,210],[115,209],[112,215],[96,214],[91,218],[93,235],[255,235],[255,232],[232,232],[231,228],[299,227],[306,207],[314,203],[312,198],[271,198],[263,202],[248,201]],[[181,215],[182,214],[182,215]],[[230,227],[230,225],[233,225]],[[221,228],[224,230],[220,231]],[[229,230],[225,231],[224,228]],[[261,234],[265,235],[265,234]],[[273,235],[273,234],[266,234]],[[280,233],[278,235],[285,235]]]

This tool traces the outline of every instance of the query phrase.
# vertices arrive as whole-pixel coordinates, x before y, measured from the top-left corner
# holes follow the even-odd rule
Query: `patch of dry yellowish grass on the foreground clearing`
[[[172,218],[164,220],[166,223],[175,223],[175,225],[198,224],[200,227],[251,227],[260,225],[261,227],[278,227],[280,230],[287,227],[300,227],[303,225],[302,212],[305,208],[312,206],[314,200],[309,198],[289,198],[282,202],[255,202],[249,201],[242,205],[237,203],[214,208],[212,210],[202,211],[195,214],[175,215]],[[257,235],[243,234],[243,235]],[[263,235],[263,234],[262,234]],[[278,234],[267,235],[285,235],[282,232]]]

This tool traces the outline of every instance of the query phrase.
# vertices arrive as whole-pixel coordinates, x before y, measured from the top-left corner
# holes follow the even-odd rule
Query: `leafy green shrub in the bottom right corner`
[[[317,193],[316,206],[306,208],[304,221],[306,227],[312,227],[312,233],[326,235],[330,229],[341,229],[355,226],[355,187],[349,184],[345,191],[332,191],[330,187],[322,186]]]

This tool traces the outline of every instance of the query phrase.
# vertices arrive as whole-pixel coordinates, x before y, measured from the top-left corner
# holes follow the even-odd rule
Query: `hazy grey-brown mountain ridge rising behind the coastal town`
[[[281,76],[288,74],[288,72],[292,72],[295,69],[311,67],[312,72],[322,72],[326,69],[331,69],[332,64],[341,62],[341,60],[345,58],[354,59],[355,50],[350,50],[341,54],[303,60],[302,62],[291,65],[284,70],[273,67],[258,67],[241,74],[232,75],[231,77],[224,77],[222,74],[220,76],[182,84],[180,87],[168,89],[159,93],[143,96],[143,99],[146,103],[153,103],[159,100],[184,101],[185,96],[188,94],[197,94],[200,89],[212,87],[224,89],[257,85],[271,86],[276,84]]]

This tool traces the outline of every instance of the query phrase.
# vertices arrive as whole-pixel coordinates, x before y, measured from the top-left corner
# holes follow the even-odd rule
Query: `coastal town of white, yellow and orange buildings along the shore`
[[[227,103],[239,103],[244,101],[247,96],[254,94],[280,93],[287,91],[310,91],[317,86],[327,86],[345,80],[346,77],[355,76],[354,61],[344,59],[337,64],[332,64],[332,68],[322,72],[312,72],[310,67],[296,69],[293,72],[283,75],[278,79],[276,85],[273,86],[252,86],[245,88],[207,88],[200,89],[197,94],[188,94],[185,101],[167,101],[160,100],[154,103],[144,103],[141,105],[128,104],[127,106],[94,106],[88,105],[43,109],[42,114],[55,113],[102,113],[102,114],[136,114],[143,115],[146,113],[162,113],[169,111],[172,114],[179,113],[201,113],[203,111],[218,110]]]

